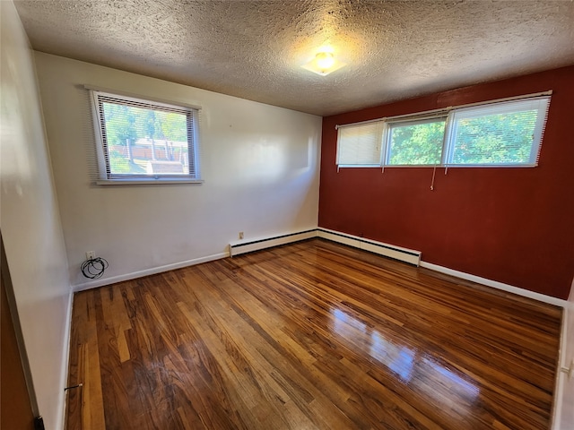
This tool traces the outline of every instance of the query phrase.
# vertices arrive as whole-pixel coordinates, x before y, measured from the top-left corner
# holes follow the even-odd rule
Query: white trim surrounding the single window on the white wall
[[[203,184],[204,180],[200,176],[200,150],[199,150],[199,123],[201,107],[190,105],[187,103],[167,101],[164,99],[156,99],[147,96],[135,95],[124,91],[108,90],[91,85],[83,86],[89,90],[91,99],[92,120],[94,127],[94,134],[96,140],[96,155],[98,163],[98,179],[94,181],[95,185],[165,185],[165,184]],[[192,157],[194,159],[195,174],[183,174],[181,176],[152,176],[141,175],[134,177],[109,177],[108,174],[108,161],[106,158],[103,133],[100,123],[100,108],[98,102],[98,95],[102,94],[117,99],[126,99],[135,102],[143,102],[152,106],[178,108],[189,112],[192,116],[193,128],[193,148],[191,149]],[[190,157],[191,158],[191,157]]]

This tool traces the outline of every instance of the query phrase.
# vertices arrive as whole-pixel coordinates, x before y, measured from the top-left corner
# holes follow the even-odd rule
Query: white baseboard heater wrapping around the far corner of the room
[[[408,262],[415,266],[421,263],[421,251],[403,248],[401,246],[389,245],[376,240],[365,239],[364,237],[347,235],[335,230],[326,228],[314,228],[312,230],[300,231],[282,236],[266,237],[249,242],[235,242],[229,245],[230,256],[250,253],[272,246],[290,244],[311,237],[322,237],[339,244],[349,245],[354,248],[369,251],[373,254],[383,255],[401,262]]]

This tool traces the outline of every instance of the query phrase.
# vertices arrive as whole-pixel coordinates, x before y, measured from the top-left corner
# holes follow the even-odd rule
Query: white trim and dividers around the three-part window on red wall
[[[376,118],[367,121],[361,121],[357,123],[345,124],[345,125],[335,125],[335,130],[338,131],[341,127],[347,126],[355,126],[355,125],[367,125],[374,122],[383,122],[383,140],[382,140],[382,148],[381,148],[381,161],[380,164],[363,164],[363,165],[349,165],[349,164],[336,164],[338,162],[338,154],[339,154],[339,136],[337,135],[337,152],[336,152],[336,159],[335,164],[337,166],[337,171],[339,168],[437,168],[437,167],[444,167],[444,168],[533,168],[538,165],[538,158],[540,154],[540,150],[542,147],[542,141],[544,139],[544,126],[547,120],[548,111],[550,108],[552,90],[547,90],[543,92],[537,92],[533,94],[527,94],[523,96],[516,96],[516,97],[509,97],[505,99],[495,99],[489,100],[484,102],[478,103],[469,103],[465,105],[459,105],[457,107],[445,107],[439,109],[433,109],[429,111],[424,111],[416,114],[405,114],[399,116],[388,116],[383,118]],[[454,151],[454,143],[453,135],[455,132],[455,121],[453,120],[453,115],[455,112],[463,111],[465,109],[472,109],[476,107],[487,107],[489,105],[499,105],[506,102],[512,101],[521,101],[521,100],[528,100],[528,99],[548,99],[546,110],[544,115],[538,116],[536,125],[535,125],[535,139],[532,143],[532,150],[530,153],[530,159],[527,163],[489,163],[489,164],[461,164],[461,163],[453,163],[451,162],[453,151]],[[509,103],[510,105],[510,103]],[[441,148],[441,159],[440,164],[406,164],[406,165],[397,165],[397,164],[387,164],[388,159],[390,157],[390,133],[389,130],[391,129],[392,125],[411,122],[416,124],[417,122],[421,121],[428,121],[431,119],[440,119],[446,118],[445,123],[445,133],[444,139],[442,142]]]

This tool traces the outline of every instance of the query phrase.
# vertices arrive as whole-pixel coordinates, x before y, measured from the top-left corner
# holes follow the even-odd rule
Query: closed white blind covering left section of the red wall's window
[[[338,129],[338,166],[380,166],[384,123],[342,125]]]

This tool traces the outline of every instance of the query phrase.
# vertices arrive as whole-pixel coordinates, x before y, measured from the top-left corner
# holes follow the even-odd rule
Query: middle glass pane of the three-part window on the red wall
[[[431,119],[391,125],[387,164],[440,164],[445,123],[444,119]]]

